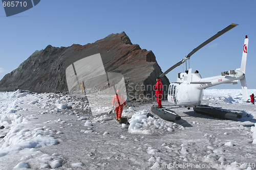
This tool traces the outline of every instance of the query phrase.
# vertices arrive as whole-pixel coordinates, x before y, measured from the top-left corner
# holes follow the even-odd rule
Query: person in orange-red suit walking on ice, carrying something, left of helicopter
[[[123,112],[123,105],[126,105],[124,96],[120,93],[119,90],[116,91],[116,94],[113,97],[113,101],[112,101],[112,107],[116,108],[116,120],[119,120],[119,118],[122,116],[122,112]]]

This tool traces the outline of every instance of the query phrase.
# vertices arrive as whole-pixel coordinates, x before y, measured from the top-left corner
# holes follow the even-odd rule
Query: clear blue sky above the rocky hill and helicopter
[[[201,76],[220,75],[240,68],[248,35],[246,81],[256,89],[256,1],[62,1],[41,2],[6,17],[0,7],[0,79],[34,51],[47,45],[87,44],[124,31],[132,43],[152,50],[165,71],[202,42],[231,23],[239,26],[207,44],[190,58],[190,68]],[[166,76],[175,82],[182,65]],[[241,88],[224,84],[214,88]]]

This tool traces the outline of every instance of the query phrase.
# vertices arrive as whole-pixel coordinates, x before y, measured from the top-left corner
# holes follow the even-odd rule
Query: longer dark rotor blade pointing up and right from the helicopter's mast
[[[192,56],[194,53],[196,53],[198,50],[200,50],[203,46],[205,46],[206,44],[208,44],[209,42],[215,40],[216,38],[218,38],[219,36],[221,36],[222,34],[228,32],[229,30],[231,30],[232,28],[238,26],[238,24],[236,23],[231,23],[229,26],[227,26],[226,28],[224,28],[223,30],[219,31],[217,34],[215,34],[214,36],[210,37],[209,39],[207,39],[206,41],[204,41],[201,45],[199,45],[198,47],[196,47],[193,51],[191,51],[186,57],[189,58],[190,56]]]

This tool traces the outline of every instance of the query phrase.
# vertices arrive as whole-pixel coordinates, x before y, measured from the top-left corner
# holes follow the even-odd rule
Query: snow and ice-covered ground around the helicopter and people
[[[168,122],[146,116],[153,102],[127,102],[127,126],[108,114],[111,101],[93,116],[68,93],[0,92],[0,169],[256,169],[256,107],[242,90],[205,90],[202,102],[237,120],[178,108]]]

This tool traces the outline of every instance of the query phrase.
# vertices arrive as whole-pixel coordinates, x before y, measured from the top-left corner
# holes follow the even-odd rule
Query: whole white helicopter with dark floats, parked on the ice
[[[163,72],[163,74],[160,75],[160,77],[163,77],[166,75],[169,71],[173,70],[177,66],[181,65],[182,63],[186,62],[191,55],[196,53],[200,48],[211,42],[212,40],[218,38],[222,34],[226,33],[227,31],[231,30],[232,28],[238,26],[237,24],[232,23],[222,31],[218,32],[216,35],[212,36],[205,42],[203,42],[201,45],[196,47],[192,52],[190,52],[186,57],[184,57],[180,62],[176,63],[172,67],[170,67],[168,70]],[[242,56],[242,62],[241,62],[241,68],[236,70],[229,70],[225,72],[221,72],[220,76],[214,76],[214,77],[208,77],[208,78],[202,78],[201,75],[198,73],[198,71],[192,72],[192,69],[188,69],[185,72],[180,72],[178,74],[178,78],[176,82],[170,83],[168,88],[168,102],[176,105],[176,106],[184,106],[190,109],[190,107],[193,107],[194,110],[196,108],[196,112],[200,113],[209,113],[210,115],[214,115],[216,117],[221,118],[241,118],[241,115],[231,115],[230,111],[225,112],[229,115],[217,113],[218,111],[213,109],[212,107],[205,107],[200,106],[202,98],[203,98],[203,89],[216,86],[223,83],[232,83],[237,84],[238,80],[240,80],[244,99],[248,100],[248,90],[245,80],[245,68],[246,68],[246,59],[247,59],[247,49],[248,49],[248,38],[245,37],[244,41],[244,48],[243,48],[243,56]],[[210,109],[209,109],[210,108]],[[202,109],[202,110],[197,110]],[[223,109],[220,110],[223,112]],[[152,107],[152,112],[159,115],[163,119],[167,120],[179,120],[180,117],[177,117],[177,114],[172,111],[168,110],[167,108],[157,109],[156,107]],[[172,114],[166,114],[166,113],[172,113]]]

